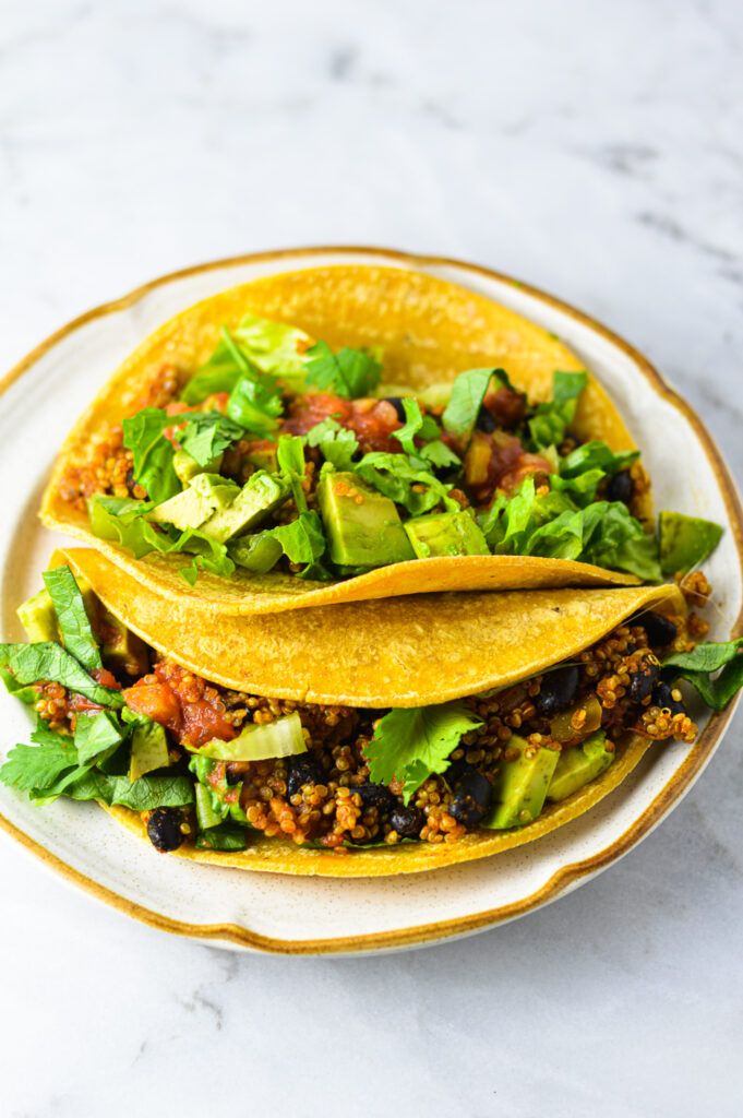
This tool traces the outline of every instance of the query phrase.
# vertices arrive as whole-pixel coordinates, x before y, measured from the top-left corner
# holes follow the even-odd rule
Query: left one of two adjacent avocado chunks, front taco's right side
[[[537,817],[560,759],[556,749],[530,746],[516,735],[508,738],[505,756],[508,759],[501,761],[493,786],[495,807],[484,819],[485,826],[496,831],[520,827]]]

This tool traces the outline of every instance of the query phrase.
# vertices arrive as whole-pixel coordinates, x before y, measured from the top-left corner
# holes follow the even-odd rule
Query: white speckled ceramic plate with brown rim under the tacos
[[[708,433],[641,354],[564,303],[485,268],[385,249],[265,253],[189,268],[91,311],[42,342],[0,381],[0,638],[22,634],[16,606],[63,538],[36,519],[55,453],[112,369],[172,314],[258,276],[328,264],[419,268],[512,307],[558,334],[603,382],[642,447],[656,508],[717,520],[725,536],[705,565],[715,588],[712,637],[743,633],[743,515]],[[663,430],[658,440],[657,432]],[[668,814],[718,746],[732,710],[694,746],[649,750],[581,818],[479,862],[396,879],[325,880],[215,870],[150,850],[91,804],[35,808],[0,786],[0,827],[102,901],[156,928],[215,945],[288,955],[421,946],[515,919],[577,889]],[[0,694],[0,754],[27,740],[25,709]]]

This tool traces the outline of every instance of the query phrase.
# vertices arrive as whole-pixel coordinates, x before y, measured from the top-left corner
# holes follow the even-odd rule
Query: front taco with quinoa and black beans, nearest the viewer
[[[45,582],[19,609],[31,643],[0,645],[38,719],[0,780],[41,804],[95,799],[158,851],[222,866],[373,877],[530,842],[647,748],[694,740],[680,676],[714,709],[743,681],[743,641],[697,644],[676,587],[207,626],[89,549],[58,552]],[[698,574],[689,589],[709,593]],[[458,646],[441,645],[453,627]]]

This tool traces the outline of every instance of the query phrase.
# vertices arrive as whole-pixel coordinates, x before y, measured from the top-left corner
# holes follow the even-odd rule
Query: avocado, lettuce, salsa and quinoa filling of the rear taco
[[[639,452],[581,442],[585,372],[554,372],[536,402],[504,369],[413,390],[384,385],[383,361],[248,314],[196,373],[161,368],[67,463],[57,499],[136,559],[177,557],[191,585],[492,555],[655,582],[716,546],[717,525],[673,513],[656,537]]]

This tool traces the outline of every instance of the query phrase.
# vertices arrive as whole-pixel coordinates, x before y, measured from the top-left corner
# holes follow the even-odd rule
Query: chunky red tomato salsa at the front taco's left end
[[[153,674],[127,688],[124,698],[133,711],[160,722],[184,745],[198,748],[212,738],[229,741],[237,736],[215,688],[169,661],[155,664]]]

